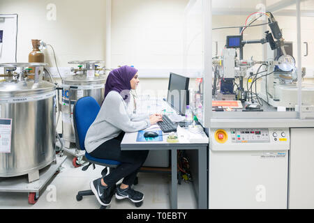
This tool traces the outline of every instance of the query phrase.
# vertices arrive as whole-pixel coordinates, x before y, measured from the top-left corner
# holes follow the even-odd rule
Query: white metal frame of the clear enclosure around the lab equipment
[[[203,15],[203,36],[204,36],[204,120],[202,120],[202,124],[204,128],[212,127],[214,125],[225,125],[227,121],[230,123],[239,123],[241,121],[245,121],[246,123],[248,120],[252,123],[258,123],[259,126],[264,125],[267,123],[269,127],[274,126],[273,123],[280,124],[281,126],[293,125],[294,127],[302,127],[302,126],[314,126],[314,112],[303,112],[303,111],[294,111],[294,112],[212,112],[211,111],[211,86],[212,86],[212,72],[211,72],[211,54],[212,54],[212,45],[211,45],[211,17],[213,15],[213,10],[211,8],[211,0],[202,1],[203,7],[202,12]],[[301,68],[301,8],[300,2],[304,0],[283,0],[279,1],[278,3],[267,7],[267,10],[275,10],[276,12],[280,11],[281,9],[291,6],[294,3],[297,6],[297,59],[298,64],[297,67]],[[197,2],[197,0],[190,0],[188,6],[186,6],[185,10],[185,18],[184,18],[184,67],[186,68],[186,57],[187,57],[187,49],[186,45],[186,23],[187,23],[187,15],[189,10],[193,8],[193,5]],[[301,80],[301,69],[298,70],[298,79]],[[208,87],[209,86],[209,87]],[[301,82],[298,82],[298,107],[301,107]],[[301,110],[301,109],[300,109]],[[306,119],[311,117],[311,119]],[[304,123],[305,119],[307,120],[308,124]],[[240,124],[241,125],[241,124]],[[248,124],[250,125],[250,124]]]

